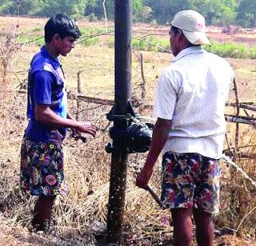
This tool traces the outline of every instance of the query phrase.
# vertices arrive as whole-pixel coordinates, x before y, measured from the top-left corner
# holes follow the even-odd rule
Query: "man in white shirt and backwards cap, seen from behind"
[[[205,18],[194,10],[175,15],[170,28],[174,59],[162,71],[156,93],[150,152],[136,185],[147,188],[159,154],[162,196],[174,222],[174,244],[213,245],[213,215],[219,206],[218,159],[226,133],[225,101],[234,71],[223,58],[206,52]]]

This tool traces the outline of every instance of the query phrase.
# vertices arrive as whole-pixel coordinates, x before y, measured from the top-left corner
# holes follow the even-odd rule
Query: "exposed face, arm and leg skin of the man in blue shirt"
[[[61,38],[54,34],[50,42],[46,43],[46,50],[53,58],[59,55],[66,56],[74,48],[73,37]],[[95,137],[96,126],[90,121],[76,121],[67,113],[67,118],[62,118],[50,109],[50,105],[35,105],[35,119],[44,125],[53,128],[70,128],[77,133],[88,133]],[[45,231],[47,224],[50,224],[51,212],[56,196],[39,196],[34,207],[34,218],[32,224],[36,231]]]

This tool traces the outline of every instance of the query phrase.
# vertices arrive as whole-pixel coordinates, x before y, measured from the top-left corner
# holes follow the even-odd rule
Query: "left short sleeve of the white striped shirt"
[[[164,70],[158,81],[156,98],[154,101],[154,116],[171,120],[178,97],[178,86],[173,71]]]

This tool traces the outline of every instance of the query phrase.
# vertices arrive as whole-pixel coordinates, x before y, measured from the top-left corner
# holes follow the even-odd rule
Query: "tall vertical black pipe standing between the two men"
[[[114,20],[114,100],[115,114],[126,115],[131,87],[131,0],[115,0]],[[126,128],[126,121],[114,120],[116,129]],[[111,157],[110,196],[107,215],[107,243],[121,244],[122,220],[126,195],[127,146],[124,136],[114,139]]]

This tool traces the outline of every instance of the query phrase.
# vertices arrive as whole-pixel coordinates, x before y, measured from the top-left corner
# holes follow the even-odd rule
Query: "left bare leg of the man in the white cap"
[[[192,208],[174,208],[171,209],[171,215],[174,222],[174,245],[192,245]]]

